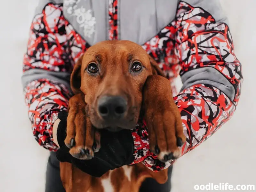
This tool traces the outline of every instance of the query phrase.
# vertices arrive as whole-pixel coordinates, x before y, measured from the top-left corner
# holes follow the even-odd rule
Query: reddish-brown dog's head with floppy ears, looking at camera
[[[96,128],[132,129],[138,121],[148,76],[163,75],[156,62],[131,41],[104,41],[90,47],[71,74],[71,88],[82,91]]]

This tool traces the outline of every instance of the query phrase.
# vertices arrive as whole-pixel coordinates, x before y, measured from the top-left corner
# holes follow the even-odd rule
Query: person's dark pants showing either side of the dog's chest
[[[164,184],[159,184],[152,178],[146,179],[140,187],[140,192],[170,192],[171,174],[172,166],[168,169],[168,181]],[[65,192],[60,180],[60,162],[54,152],[51,152],[47,163],[45,192]]]

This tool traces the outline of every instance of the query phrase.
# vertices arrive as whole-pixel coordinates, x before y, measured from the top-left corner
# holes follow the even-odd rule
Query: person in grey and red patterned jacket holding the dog
[[[63,124],[59,126],[65,115],[58,115],[67,110],[72,96],[70,73],[88,47],[103,40],[130,40],[156,60],[170,79],[181,113],[184,155],[232,117],[240,97],[242,69],[227,23],[218,0],[40,0],[30,28],[22,82],[35,139],[51,151],[45,190],[65,191],[55,153],[60,151],[57,132],[65,130]],[[177,92],[179,74],[183,86]],[[150,152],[143,124],[131,135],[132,140],[125,142],[134,146],[132,162],[109,169],[139,162],[152,171],[169,167],[165,184],[147,179],[140,191],[170,191],[175,161],[161,163]],[[122,140],[118,142],[122,144]],[[116,145],[114,142],[111,148]],[[113,153],[111,161],[115,162],[116,156],[118,153]],[[66,161],[65,156],[59,159]]]

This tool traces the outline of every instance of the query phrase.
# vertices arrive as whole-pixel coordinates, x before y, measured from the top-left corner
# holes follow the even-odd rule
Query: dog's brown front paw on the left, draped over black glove
[[[73,157],[88,160],[100,149],[100,133],[86,116],[85,107],[82,94],[74,95],[69,100],[67,137],[64,142]]]

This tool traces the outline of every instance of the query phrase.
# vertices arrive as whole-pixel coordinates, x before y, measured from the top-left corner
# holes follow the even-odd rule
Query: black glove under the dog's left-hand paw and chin
[[[69,154],[69,148],[64,140],[67,136],[67,112],[61,111],[58,115],[60,123],[57,129],[57,140],[60,149],[57,151],[57,158],[60,162],[74,164],[83,172],[94,177],[100,177],[109,170],[119,168],[123,165],[131,164],[134,160],[134,143],[130,130],[120,132],[109,132],[101,130],[100,151],[94,153],[90,160],[80,160]]]

